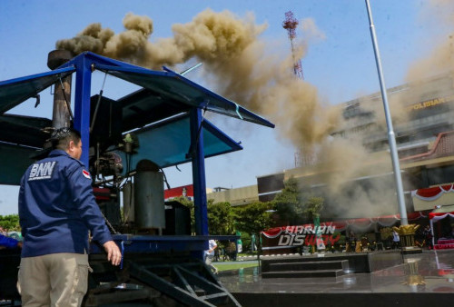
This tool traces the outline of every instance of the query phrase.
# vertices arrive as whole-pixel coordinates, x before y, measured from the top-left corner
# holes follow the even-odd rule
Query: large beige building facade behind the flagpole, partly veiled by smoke
[[[453,84],[452,76],[445,74],[388,90],[408,213],[430,211],[440,202],[421,200],[415,196],[415,191],[454,182]],[[314,161],[312,156],[305,159],[300,154],[297,167],[257,177],[257,199],[271,201],[281,192],[284,182],[294,177],[303,190],[325,199],[321,214],[325,219],[398,213],[388,131],[382,109],[380,93],[342,105],[341,124],[331,137],[355,139],[360,143],[359,151],[365,153],[367,159],[356,165],[358,171],[354,176],[342,178],[344,173],[349,173],[346,167],[350,166],[341,163],[333,166],[332,163]],[[354,155],[354,152],[352,150],[350,154]],[[332,193],[332,178],[336,175],[342,182],[339,191]],[[234,190],[229,190],[229,193],[233,195]],[[442,201],[443,204],[454,204],[454,196],[445,196]],[[231,196],[229,202],[242,203],[237,202],[235,196]]]

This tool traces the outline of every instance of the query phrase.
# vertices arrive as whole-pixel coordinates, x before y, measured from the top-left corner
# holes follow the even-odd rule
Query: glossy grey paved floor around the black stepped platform
[[[454,250],[406,255],[405,263],[370,273],[341,277],[262,279],[258,268],[221,272],[219,279],[232,293],[452,293]],[[220,262],[222,263],[222,262]]]

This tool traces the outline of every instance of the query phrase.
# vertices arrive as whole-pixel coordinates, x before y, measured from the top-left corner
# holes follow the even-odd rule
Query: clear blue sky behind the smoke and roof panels
[[[449,34],[448,27],[439,26],[439,15],[431,15],[435,13],[429,4],[436,2],[370,0],[388,87],[405,82],[410,65],[428,56],[432,46]],[[360,0],[3,0],[0,1],[0,80],[48,71],[47,54],[54,49],[55,42],[73,37],[94,22],[118,33],[123,31],[122,20],[127,13],[147,15],[153,20],[153,41],[172,36],[173,24],[188,23],[207,8],[215,12],[229,10],[240,18],[252,13],[256,24],[267,25],[261,37],[272,42],[269,52],[275,47],[278,54],[290,50],[287,33],[281,27],[284,13],[291,10],[299,20],[312,18],[325,38],[313,39],[297,31],[298,40],[306,39],[308,44],[307,54],[301,59],[305,80],[330,104],[379,91],[366,5]],[[39,110],[32,105],[25,104],[16,112],[51,116],[50,107],[46,108],[45,104]],[[214,119],[214,124],[226,134],[242,141],[244,150],[206,161],[208,187],[255,184],[256,176],[294,166],[295,148],[288,140],[281,139],[276,129],[235,119]],[[182,172],[175,168],[166,170],[172,186],[191,183],[190,165],[182,165],[180,169]],[[16,197],[17,187],[0,187],[0,214],[17,212]]]

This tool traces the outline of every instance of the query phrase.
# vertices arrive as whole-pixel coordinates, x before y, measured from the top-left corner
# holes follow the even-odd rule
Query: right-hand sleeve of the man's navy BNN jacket
[[[80,164],[72,167],[69,172],[69,186],[73,196],[73,203],[85,225],[91,231],[93,240],[104,244],[112,240],[112,235],[94,199],[92,179],[90,176],[88,178],[85,177],[83,172],[86,171]]]

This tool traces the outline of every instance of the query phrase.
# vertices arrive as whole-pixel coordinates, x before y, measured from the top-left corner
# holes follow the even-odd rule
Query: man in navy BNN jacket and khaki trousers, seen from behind
[[[91,270],[88,232],[113,265],[122,256],[95,203],[91,175],[79,161],[81,135],[60,128],[51,143],[53,151],[30,165],[21,180],[18,286],[23,306],[80,306]]]

